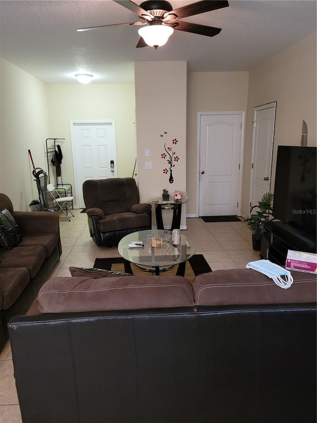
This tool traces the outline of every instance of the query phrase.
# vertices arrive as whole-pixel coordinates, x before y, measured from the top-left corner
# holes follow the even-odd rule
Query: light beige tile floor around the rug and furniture
[[[89,236],[87,215],[74,210],[68,222],[60,217],[62,256],[50,277],[70,276],[69,266],[92,267],[97,257],[118,257],[116,247],[100,248]],[[195,244],[196,254],[203,254],[212,270],[243,268],[259,259],[252,249],[251,233],[245,222],[205,223],[200,218],[187,219],[184,231]],[[15,389],[9,341],[0,353],[0,423],[21,423]],[[45,423],[45,422],[43,422]]]

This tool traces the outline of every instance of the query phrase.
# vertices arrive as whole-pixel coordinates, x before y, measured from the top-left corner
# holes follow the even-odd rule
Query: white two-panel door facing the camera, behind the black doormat
[[[200,116],[199,216],[237,215],[243,113]]]

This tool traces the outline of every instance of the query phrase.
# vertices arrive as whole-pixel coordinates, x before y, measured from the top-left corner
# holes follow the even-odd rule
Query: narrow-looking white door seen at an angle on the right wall
[[[275,112],[276,102],[254,109],[250,207],[270,190]]]

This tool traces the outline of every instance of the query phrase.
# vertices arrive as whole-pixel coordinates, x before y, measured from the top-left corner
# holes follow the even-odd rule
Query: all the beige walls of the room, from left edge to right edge
[[[19,210],[28,210],[29,202],[38,197],[28,149],[31,149],[35,165],[46,167],[46,138],[66,138],[62,165],[68,163],[69,166],[63,166],[62,174],[64,181],[73,183],[71,120],[114,120],[119,176],[132,175],[136,155],[135,93],[137,110],[141,112],[137,116],[141,198],[147,201],[159,196],[162,188],[170,192],[186,189],[188,215],[196,212],[198,112],[247,110],[244,215],[248,214],[250,201],[255,107],[277,102],[273,180],[277,145],[300,145],[303,119],[308,124],[309,145],[316,145],[316,33],[265,60],[250,73],[188,73],[187,87],[186,62],[137,62],[136,69],[140,68],[140,73],[136,75],[135,92],[133,84],[46,85],[6,60],[1,59],[0,63],[0,191],[8,193]],[[169,184],[161,172],[163,159],[160,154],[164,143],[159,135],[164,131],[168,132],[168,137],[179,140],[175,151],[180,161],[173,170],[173,184]],[[144,156],[145,148],[150,148],[150,157]],[[145,171],[148,161],[153,162],[157,173]]]

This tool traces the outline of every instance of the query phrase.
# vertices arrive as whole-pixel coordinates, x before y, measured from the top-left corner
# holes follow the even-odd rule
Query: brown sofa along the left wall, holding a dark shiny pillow
[[[8,339],[9,319],[26,312],[61,255],[58,213],[14,211],[9,197],[0,193],[4,208],[22,241],[10,250],[0,246],[0,350]]]

